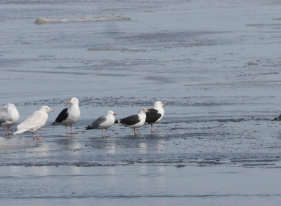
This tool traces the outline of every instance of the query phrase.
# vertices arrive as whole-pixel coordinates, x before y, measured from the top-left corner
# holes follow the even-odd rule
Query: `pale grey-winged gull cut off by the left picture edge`
[[[13,135],[10,133],[10,127],[15,125],[20,118],[20,114],[18,114],[18,110],[15,107],[15,104],[8,103],[1,110],[6,110],[0,112],[0,127],[4,127],[6,130],[6,135]]]

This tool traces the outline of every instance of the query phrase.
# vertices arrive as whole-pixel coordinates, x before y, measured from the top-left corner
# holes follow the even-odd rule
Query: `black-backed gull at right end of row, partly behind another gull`
[[[166,106],[166,104],[157,101],[154,103],[153,108],[149,109],[150,112],[146,114],[145,123],[151,125],[151,134],[153,134],[153,132],[156,132],[155,130],[153,130],[153,124],[158,123],[164,116],[163,106]]]

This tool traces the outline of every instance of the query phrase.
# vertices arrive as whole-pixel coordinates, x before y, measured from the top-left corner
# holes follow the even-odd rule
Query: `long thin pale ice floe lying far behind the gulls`
[[[48,24],[48,23],[61,23],[61,22],[98,22],[98,21],[129,21],[131,18],[126,18],[124,16],[117,15],[115,17],[107,17],[107,16],[100,16],[97,18],[62,18],[62,19],[55,19],[55,18],[38,18],[34,23],[37,25],[41,24]]]

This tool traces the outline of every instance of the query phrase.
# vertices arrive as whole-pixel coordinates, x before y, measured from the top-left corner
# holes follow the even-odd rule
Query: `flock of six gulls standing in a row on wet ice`
[[[76,134],[76,132],[74,132],[72,129],[72,125],[74,123],[77,123],[80,118],[79,99],[73,97],[72,99],[70,99],[68,104],[71,104],[71,107],[65,108],[60,111],[60,114],[58,114],[58,117],[55,118],[55,121],[53,121],[51,125],[65,125],[67,135]],[[101,130],[102,137],[109,137],[107,136],[107,130],[116,123],[119,125],[124,125],[128,128],[132,128],[134,135],[140,135],[140,133],[137,132],[136,128],[140,128],[144,124],[150,124],[151,134],[153,134],[153,132],[156,132],[155,130],[153,130],[153,124],[161,121],[164,116],[163,106],[166,106],[166,104],[157,101],[155,102],[153,108],[145,109],[143,107],[139,110],[138,114],[120,118],[119,120],[115,120],[115,116],[117,114],[114,111],[109,110],[104,116],[98,117],[95,121],[93,121],[93,123],[91,123],[91,125],[86,126],[84,129]],[[50,107],[42,106],[41,109],[34,111],[25,119],[25,121],[18,124],[17,131],[11,133],[11,126],[18,123],[18,119],[20,118],[18,109],[14,104],[8,103],[1,110],[0,127],[5,128],[6,135],[18,135],[22,132],[31,132],[33,139],[40,139],[39,129],[44,127],[44,125],[46,124],[46,121],[48,120],[48,112],[54,112],[54,110]],[[70,127],[71,132],[68,132],[67,127]],[[103,135],[103,130],[105,130],[105,135]],[[34,132],[37,132],[37,137],[34,136]]]

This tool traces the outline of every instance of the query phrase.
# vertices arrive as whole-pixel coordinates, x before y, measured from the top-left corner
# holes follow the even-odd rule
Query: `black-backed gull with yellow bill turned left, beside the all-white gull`
[[[66,134],[75,134],[72,130],[72,124],[76,123],[80,117],[79,100],[73,97],[68,104],[72,104],[71,107],[63,109],[51,125],[65,125]],[[67,126],[71,128],[70,133],[67,132]]]

